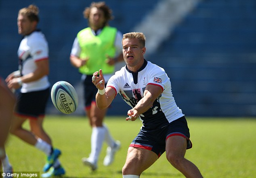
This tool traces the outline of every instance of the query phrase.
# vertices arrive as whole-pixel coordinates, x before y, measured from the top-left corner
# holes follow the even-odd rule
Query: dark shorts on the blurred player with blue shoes
[[[36,119],[39,116],[44,116],[49,94],[49,88],[36,92],[19,93],[15,114],[29,119]]]

